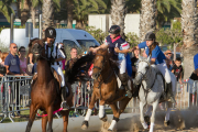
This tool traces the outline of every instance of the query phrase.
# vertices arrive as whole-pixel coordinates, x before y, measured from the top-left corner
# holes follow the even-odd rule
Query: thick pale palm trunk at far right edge
[[[197,8],[195,0],[183,0],[182,3],[182,29],[184,35],[184,44],[182,52],[184,55],[184,79],[188,79],[194,72],[194,56],[197,54],[197,38],[198,23],[197,23]]]

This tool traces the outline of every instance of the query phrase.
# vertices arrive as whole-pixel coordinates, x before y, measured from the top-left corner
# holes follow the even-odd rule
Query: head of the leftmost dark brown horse
[[[46,57],[44,45],[45,44],[43,40],[38,40],[38,38],[31,40],[29,44],[29,48],[36,59],[40,57]]]

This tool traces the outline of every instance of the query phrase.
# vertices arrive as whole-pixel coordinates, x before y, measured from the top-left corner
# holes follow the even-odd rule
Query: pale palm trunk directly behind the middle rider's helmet
[[[112,25],[119,25],[121,29],[120,35],[125,38],[124,35],[124,19],[127,14],[125,0],[111,0],[111,21]]]

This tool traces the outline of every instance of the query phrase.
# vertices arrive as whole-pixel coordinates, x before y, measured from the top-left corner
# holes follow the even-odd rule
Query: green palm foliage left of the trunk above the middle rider
[[[102,0],[74,0],[74,18],[76,19],[76,28],[82,29],[87,23],[89,13],[105,12],[107,9]]]

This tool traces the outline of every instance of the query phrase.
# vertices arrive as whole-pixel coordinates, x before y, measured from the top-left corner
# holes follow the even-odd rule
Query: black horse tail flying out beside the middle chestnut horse
[[[77,59],[77,62],[74,63],[73,67],[70,69],[66,70],[66,74],[65,74],[66,81],[68,81],[69,84],[73,84],[74,81],[76,81],[78,79],[78,77],[81,77],[80,79],[84,79],[82,76],[77,76],[77,75],[80,75],[81,70],[88,72],[89,67],[85,68],[82,66],[86,63],[92,63],[94,58],[95,58],[95,55],[87,54],[87,55],[80,57],[79,59]]]

